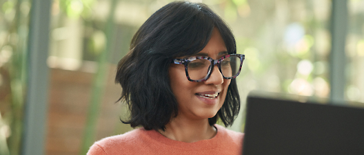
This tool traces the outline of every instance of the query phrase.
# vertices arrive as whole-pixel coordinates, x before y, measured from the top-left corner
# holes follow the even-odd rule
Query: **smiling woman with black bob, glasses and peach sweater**
[[[116,82],[138,128],[92,145],[88,154],[240,154],[243,134],[236,78],[244,56],[203,3],[176,1],[139,28],[118,64]]]

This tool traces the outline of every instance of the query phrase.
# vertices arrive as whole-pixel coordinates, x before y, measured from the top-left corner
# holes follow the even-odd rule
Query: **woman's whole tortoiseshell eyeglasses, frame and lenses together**
[[[244,59],[245,55],[243,54],[229,54],[219,60],[214,60],[208,56],[194,56],[185,59],[172,59],[172,63],[184,64],[186,76],[191,82],[203,82],[210,78],[215,64],[219,67],[224,79],[236,78],[241,71]]]

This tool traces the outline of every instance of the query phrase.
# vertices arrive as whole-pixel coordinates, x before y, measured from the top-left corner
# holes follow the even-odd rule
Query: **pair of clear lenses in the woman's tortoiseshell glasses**
[[[211,62],[206,59],[196,59],[188,63],[188,75],[191,80],[204,79],[210,70]],[[220,64],[221,72],[225,78],[234,77],[240,67],[240,58],[237,56],[230,56],[224,58]]]

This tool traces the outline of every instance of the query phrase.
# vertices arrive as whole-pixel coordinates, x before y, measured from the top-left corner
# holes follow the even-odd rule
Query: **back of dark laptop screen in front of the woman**
[[[364,154],[364,108],[260,94],[247,97],[243,155]]]

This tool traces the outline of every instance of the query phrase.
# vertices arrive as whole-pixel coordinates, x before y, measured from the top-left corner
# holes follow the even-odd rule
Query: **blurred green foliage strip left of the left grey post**
[[[26,47],[30,2],[1,1],[0,154],[19,154],[26,97]]]

